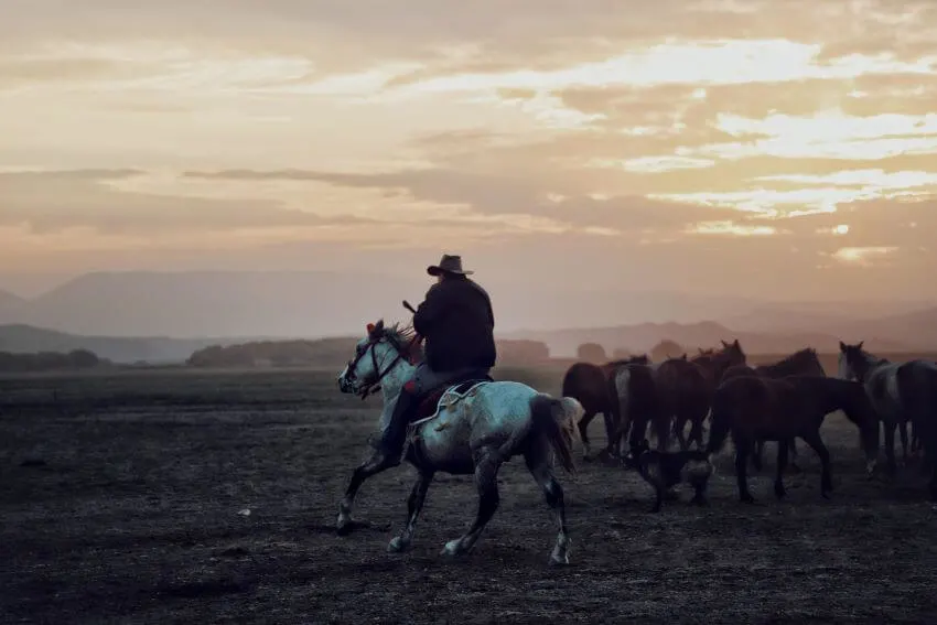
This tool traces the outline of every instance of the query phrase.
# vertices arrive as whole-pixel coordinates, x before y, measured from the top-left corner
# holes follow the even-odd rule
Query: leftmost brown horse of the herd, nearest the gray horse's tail
[[[563,397],[574,397],[582,405],[584,413],[579,421],[579,433],[584,448],[583,460],[591,460],[589,440],[589,423],[597,413],[605,421],[607,445],[603,452],[613,453],[612,437],[618,423],[618,400],[615,392],[615,373],[626,365],[647,365],[650,359],[646,354],[632,356],[622,360],[611,360],[604,365],[592,363],[574,363],[563,376]]]

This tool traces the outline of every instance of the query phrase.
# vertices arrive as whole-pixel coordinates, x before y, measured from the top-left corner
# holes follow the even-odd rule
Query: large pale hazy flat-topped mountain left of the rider
[[[9,310],[0,322],[95,336],[357,334],[379,315],[406,319],[412,283],[378,274],[314,271],[101,272],[76,278]]]

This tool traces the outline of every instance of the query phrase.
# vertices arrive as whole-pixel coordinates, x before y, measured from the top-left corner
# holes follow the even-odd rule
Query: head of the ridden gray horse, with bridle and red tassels
[[[367,325],[367,336],[355,344],[355,355],[338,374],[342,392],[366,397],[401,362],[411,359],[413,337],[384,320]]]

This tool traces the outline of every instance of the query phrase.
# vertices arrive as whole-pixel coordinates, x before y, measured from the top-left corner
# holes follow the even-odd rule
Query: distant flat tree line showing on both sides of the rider
[[[341,367],[355,352],[358,338],[319,341],[258,341],[238,345],[212,345],[194,352],[191,367]],[[550,359],[550,349],[540,341],[498,341],[498,364],[532,365]]]

